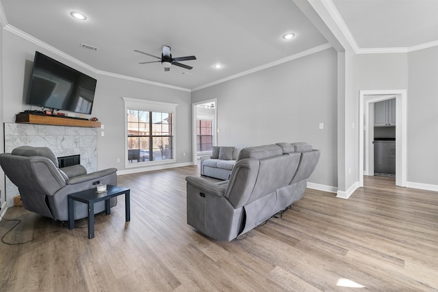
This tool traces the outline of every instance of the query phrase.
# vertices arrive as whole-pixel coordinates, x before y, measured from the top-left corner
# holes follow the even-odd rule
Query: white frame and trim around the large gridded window
[[[163,103],[161,101],[146,101],[144,99],[122,97],[125,102],[125,168],[138,168],[144,165],[158,165],[175,163],[176,149],[177,149],[177,125],[175,123],[177,119],[177,103]],[[157,161],[142,161],[139,163],[128,163],[128,109],[140,110],[140,111],[156,111],[166,112],[172,114],[172,159],[157,160]]]

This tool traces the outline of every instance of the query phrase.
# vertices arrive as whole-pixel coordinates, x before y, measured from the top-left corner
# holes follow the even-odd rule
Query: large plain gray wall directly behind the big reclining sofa
[[[211,98],[218,98],[218,145],[308,142],[322,152],[309,181],[337,186],[334,49],[192,92],[192,103]]]

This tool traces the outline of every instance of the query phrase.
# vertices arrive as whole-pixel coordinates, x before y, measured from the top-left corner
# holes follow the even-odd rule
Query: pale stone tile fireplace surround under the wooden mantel
[[[57,157],[81,155],[81,165],[87,172],[97,170],[97,129],[88,127],[54,126],[46,124],[5,123],[5,153],[18,146],[48,147]],[[5,181],[6,203],[14,205],[18,188]]]

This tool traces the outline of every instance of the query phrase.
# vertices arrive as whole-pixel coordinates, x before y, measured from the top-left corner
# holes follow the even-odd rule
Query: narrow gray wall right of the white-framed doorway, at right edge
[[[408,181],[438,189],[438,47],[408,53]]]

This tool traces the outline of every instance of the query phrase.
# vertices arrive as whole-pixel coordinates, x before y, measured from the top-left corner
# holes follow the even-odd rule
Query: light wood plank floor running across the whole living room
[[[365,177],[348,200],[307,189],[281,218],[242,240],[186,224],[185,176],[196,166],[118,176],[131,189],[112,214],[68,230],[22,207],[0,243],[0,291],[438,291],[438,194]],[[15,222],[0,222],[0,235]],[[363,288],[339,284],[360,284]]]

